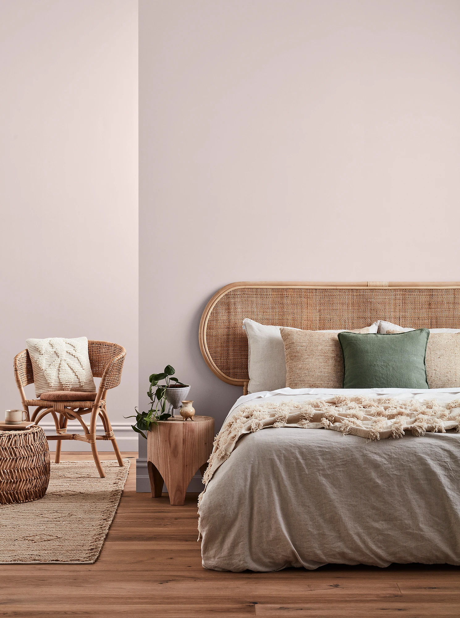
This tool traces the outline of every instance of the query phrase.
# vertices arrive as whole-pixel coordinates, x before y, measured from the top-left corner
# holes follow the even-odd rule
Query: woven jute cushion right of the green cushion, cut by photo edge
[[[460,388],[460,332],[430,331],[425,365],[430,388]]]

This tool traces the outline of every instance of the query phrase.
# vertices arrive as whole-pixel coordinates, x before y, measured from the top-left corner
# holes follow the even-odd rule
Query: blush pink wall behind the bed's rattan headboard
[[[140,0],[140,400],[232,281],[460,279],[460,3]]]

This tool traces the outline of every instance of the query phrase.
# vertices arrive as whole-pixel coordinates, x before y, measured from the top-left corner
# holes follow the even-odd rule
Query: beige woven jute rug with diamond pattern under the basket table
[[[92,564],[115,516],[129,472],[116,461],[51,463],[45,497],[0,505],[0,564]]]

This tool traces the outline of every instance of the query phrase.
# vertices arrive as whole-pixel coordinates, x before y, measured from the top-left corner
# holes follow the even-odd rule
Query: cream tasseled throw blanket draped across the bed
[[[414,436],[424,436],[427,431],[460,431],[460,399],[441,405],[436,399],[420,402],[415,399],[398,401],[393,397],[335,396],[330,400],[269,401],[242,405],[216,436],[209,466],[203,475],[205,489],[198,497],[198,506],[213,474],[230,457],[241,436],[268,427],[285,426],[324,428],[371,441],[400,438],[405,430],[411,431]]]

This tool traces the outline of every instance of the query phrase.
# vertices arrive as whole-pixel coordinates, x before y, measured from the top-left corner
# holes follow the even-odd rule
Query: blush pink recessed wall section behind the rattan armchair
[[[1,2],[0,58],[2,409],[20,407],[13,358],[27,337],[115,341],[127,357],[108,408],[132,449],[137,1]]]

